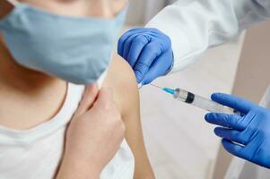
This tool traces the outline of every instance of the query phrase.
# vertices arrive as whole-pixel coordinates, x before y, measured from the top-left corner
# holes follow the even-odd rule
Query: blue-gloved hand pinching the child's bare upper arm
[[[156,29],[127,31],[118,41],[118,55],[131,65],[137,82],[143,85],[165,75],[173,65],[170,38]]]

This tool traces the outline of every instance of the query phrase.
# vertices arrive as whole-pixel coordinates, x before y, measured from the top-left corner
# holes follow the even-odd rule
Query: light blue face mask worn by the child
[[[107,20],[65,17],[18,4],[0,21],[0,30],[17,63],[89,85],[109,66],[126,9]]]

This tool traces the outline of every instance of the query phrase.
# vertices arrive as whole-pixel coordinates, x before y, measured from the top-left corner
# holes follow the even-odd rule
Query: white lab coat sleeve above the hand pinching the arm
[[[269,17],[269,0],[179,0],[165,7],[146,27],[170,37],[175,72],[194,63],[207,48]]]

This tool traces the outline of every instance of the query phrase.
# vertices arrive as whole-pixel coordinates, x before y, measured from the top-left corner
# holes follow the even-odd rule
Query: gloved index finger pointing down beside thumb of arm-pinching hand
[[[138,61],[135,64],[135,76],[137,82],[141,83],[143,81],[146,72],[148,72],[152,62],[161,55],[162,51],[159,44],[156,42],[151,42],[144,47],[142,54],[139,56]]]

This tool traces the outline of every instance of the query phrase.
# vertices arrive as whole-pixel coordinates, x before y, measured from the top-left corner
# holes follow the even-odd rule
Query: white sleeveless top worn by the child
[[[58,114],[43,124],[18,131],[0,126],[0,179],[50,179],[63,155],[65,130],[77,109],[84,86],[68,84],[65,103]],[[126,141],[102,171],[100,178],[131,179],[134,157]]]

